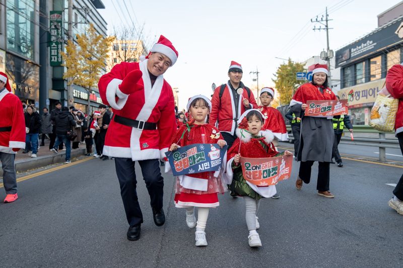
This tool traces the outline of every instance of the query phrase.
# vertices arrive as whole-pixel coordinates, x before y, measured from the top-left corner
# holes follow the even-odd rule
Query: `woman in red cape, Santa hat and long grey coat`
[[[333,148],[333,121],[331,117],[304,116],[308,108],[307,101],[337,100],[334,93],[327,86],[327,65],[316,64],[312,70],[312,82],[298,87],[291,102],[290,109],[301,118],[301,138],[297,160],[301,161],[295,186],[302,189],[303,183],[311,180],[311,167],[314,161],[319,162],[316,190],[318,195],[333,198],[329,191],[330,170],[329,164]]]

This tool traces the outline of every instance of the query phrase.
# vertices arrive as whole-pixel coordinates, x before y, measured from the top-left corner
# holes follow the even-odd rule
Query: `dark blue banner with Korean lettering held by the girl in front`
[[[144,144],[143,144],[144,147]],[[195,143],[166,152],[174,176],[220,170],[227,145]]]

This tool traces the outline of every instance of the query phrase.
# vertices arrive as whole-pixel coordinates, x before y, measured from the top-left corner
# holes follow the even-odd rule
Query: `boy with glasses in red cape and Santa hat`
[[[271,103],[274,99],[274,89],[272,87],[263,87],[260,91],[260,103],[259,111],[263,114],[265,120],[262,130],[270,130],[274,134],[274,139],[272,143],[274,144],[276,151],[277,145],[279,145],[279,140],[288,140],[288,133],[286,128],[286,123],[284,118],[276,108],[271,107]],[[273,199],[280,198],[279,193],[272,196]]]

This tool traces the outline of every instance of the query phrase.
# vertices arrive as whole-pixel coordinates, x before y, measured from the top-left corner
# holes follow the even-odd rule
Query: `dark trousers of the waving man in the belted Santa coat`
[[[127,222],[130,226],[143,223],[143,214],[136,191],[135,161],[131,158],[115,157],[116,174],[120,184]],[[143,179],[146,182],[147,191],[151,199],[151,207],[159,210],[162,208],[164,196],[164,178],[161,176],[159,159],[139,161]]]

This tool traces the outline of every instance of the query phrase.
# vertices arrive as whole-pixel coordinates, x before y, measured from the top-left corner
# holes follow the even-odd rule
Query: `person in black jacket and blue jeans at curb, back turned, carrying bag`
[[[58,153],[57,146],[61,142],[64,142],[66,146],[66,158],[65,163],[71,163],[70,154],[71,154],[71,140],[68,137],[68,132],[73,132],[72,128],[77,125],[76,121],[73,119],[72,114],[69,111],[68,107],[61,108],[61,112],[55,117],[55,133],[56,133],[56,142],[51,149],[54,153]]]

